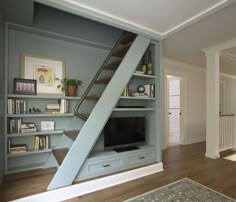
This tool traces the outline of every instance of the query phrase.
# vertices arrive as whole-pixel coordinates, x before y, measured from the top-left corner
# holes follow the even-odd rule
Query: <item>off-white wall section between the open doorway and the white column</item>
[[[167,58],[163,59],[162,65],[164,71],[176,71],[186,77],[184,144],[204,141],[206,137],[206,73],[201,68]]]

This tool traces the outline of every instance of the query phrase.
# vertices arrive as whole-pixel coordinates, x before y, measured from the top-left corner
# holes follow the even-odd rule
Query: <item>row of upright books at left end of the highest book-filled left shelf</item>
[[[26,114],[26,101],[9,98],[7,100],[8,114]]]

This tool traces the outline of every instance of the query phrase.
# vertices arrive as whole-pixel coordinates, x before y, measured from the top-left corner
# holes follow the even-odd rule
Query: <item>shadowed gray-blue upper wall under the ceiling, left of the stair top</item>
[[[34,5],[34,27],[105,45],[113,45],[121,30],[38,3]]]

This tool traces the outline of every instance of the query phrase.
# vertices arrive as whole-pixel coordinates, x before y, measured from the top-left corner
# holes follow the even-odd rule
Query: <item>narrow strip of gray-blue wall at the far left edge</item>
[[[4,93],[4,23],[0,13],[0,183],[4,175],[3,93]]]

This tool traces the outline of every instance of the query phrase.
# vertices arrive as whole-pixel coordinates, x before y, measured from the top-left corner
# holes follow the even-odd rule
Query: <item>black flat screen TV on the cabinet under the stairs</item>
[[[145,143],[145,117],[112,117],[104,128],[105,150]]]

